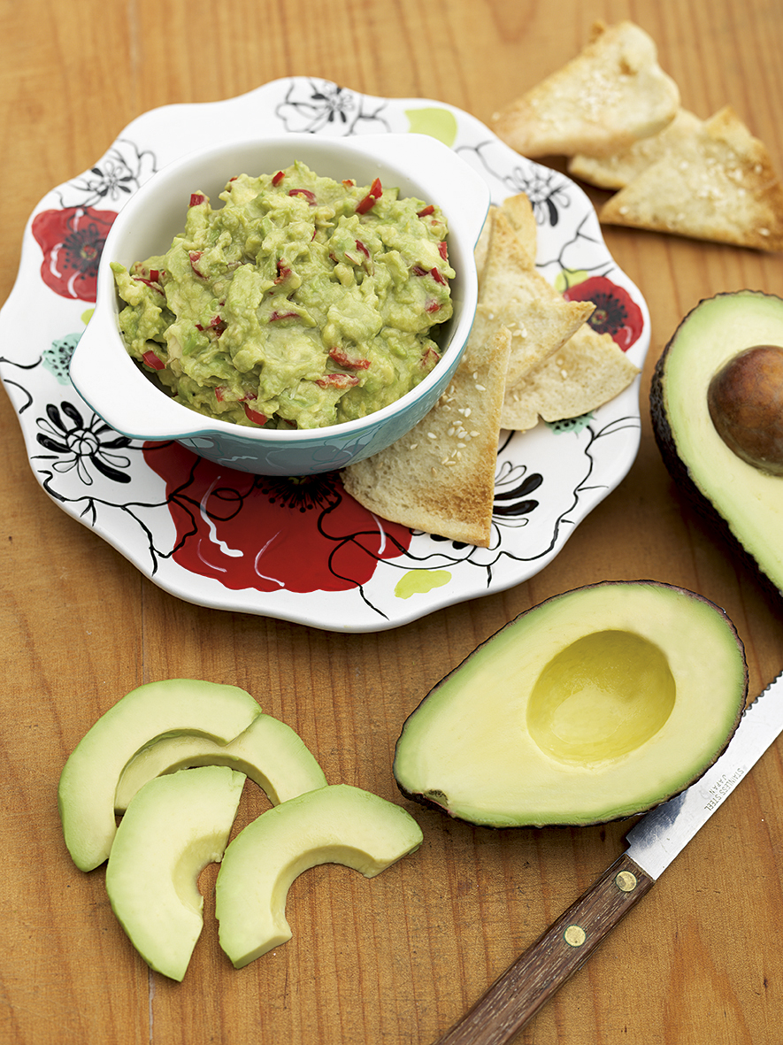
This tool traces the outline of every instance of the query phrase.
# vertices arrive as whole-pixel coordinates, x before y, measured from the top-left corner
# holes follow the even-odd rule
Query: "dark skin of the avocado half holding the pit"
[[[762,295],[761,291],[750,291],[743,292],[744,294],[759,294]],[[777,298],[777,295],[764,295],[765,297]],[[727,291],[722,294],[715,295],[715,298],[733,298],[736,295],[733,292]],[[655,438],[655,443],[658,445],[659,451],[663,459],[666,470],[669,472],[677,492],[682,495],[685,503],[693,509],[693,511],[703,518],[711,530],[713,530],[719,538],[726,543],[729,550],[734,554],[736,558],[742,562],[742,564],[747,568],[760,582],[764,591],[772,596],[774,599],[780,599],[781,593],[777,584],[766,575],[764,572],[763,564],[750,552],[744,544],[734,535],[732,529],[729,525],[728,519],[720,514],[720,512],[715,508],[712,502],[704,495],[704,493],[698,489],[696,484],[691,479],[690,470],[687,464],[681,459],[676,443],[674,441],[674,435],[671,431],[669,424],[669,417],[666,412],[666,407],[664,403],[664,380],[666,374],[666,365],[669,359],[669,354],[673,350],[673,346],[677,341],[677,338],[683,329],[683,327],[688,323],[691,316],[705,304],[707,301],[713,300],[712,298],[705,298],[681,320],[677,325],[676,330],[671,335],[667,342],[661,356],[659,357],[655,368],[652,373],[652,379],[650,382],[650,394],[649,394],[649,408],[650,408],[650,420],[652,421],[652,433]],[[781,301],[781,307],[783,308],[783,299],[778,298]],[[707,395],[707,389],[704,390],[705,396]]]

